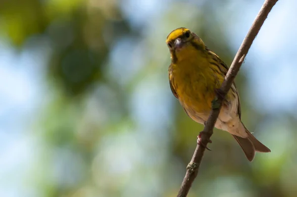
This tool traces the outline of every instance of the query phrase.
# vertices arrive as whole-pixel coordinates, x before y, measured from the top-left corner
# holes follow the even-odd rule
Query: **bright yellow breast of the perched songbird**
[[[206,53],[191,46],[176,52],[177,61],[171,64],[173,86],[181,104],[198,113],[211,110],[215,90],[224,77],[217,76],[210,68]]]

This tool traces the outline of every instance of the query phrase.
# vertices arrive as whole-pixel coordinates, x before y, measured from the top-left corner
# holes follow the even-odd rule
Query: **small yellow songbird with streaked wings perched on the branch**
[[[187,28],[173,30],[168,35],[166,44],[171,56],[168,69],[171,91],[186,113],[194,121],[204,124],[228,67]],[[232,134],[249,161],[254,158],[255,151],[270,152],[242,123],[235,83],[226,94],[215,127]]]

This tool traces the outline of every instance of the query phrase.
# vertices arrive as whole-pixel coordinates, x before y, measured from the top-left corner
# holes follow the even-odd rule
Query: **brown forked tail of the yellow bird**
[[[244,124],[243,124],[244,125]],[[244,125],[245,127],[245,125]],[[271,150],[267,148],[265,145],[260,143],[245,127],[247,132],[247,138],[242,138],[233,135],[235,140],[238,142],[238,144],[241,146],[241,148],[244,150],[247,159],[249,161],[252,161],[252,159],[255,156],[255,152],[270,152]]]

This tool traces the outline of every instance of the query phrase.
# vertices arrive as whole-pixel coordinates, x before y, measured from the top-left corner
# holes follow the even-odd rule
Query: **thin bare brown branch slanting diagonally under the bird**
[[[210,141],[210,137],[213,133],[213,128],[215,125],[215,122],[218,118],[221,103],[223,102],[226,93],[229,91],[234,78],[236,77],[242,63],[244,62],[245,57],[247,56],[247,52],[255,39],[256,35],[258,34],[261,26],[263,25],[265,19],[268,16],[268,13],[272,9],[272,7],[275,5],[275,3],[278,0],[265,0],[264,4],[262,5],[258,15],[256,16],[253,24],[251,25],[247,36],[245,40],[243,41],[241,47],[237,51],[234,60],[228,70],[228,73],[225,77],[225,80],[220,88],[220,96],[218,96],[213,101],[212,110],[210,112],[210,115],[208,117],[208,120],[205,123],[204,129],[201,132],[201,144],[207,145]],[[203,135],[202,135],[203,134]],[[202,146],[197,145],[195,152],[193,154],[193,157],[191,159],[191,162],[187,166],[187,172],[185,175],[185,178],[183,180],[183,183],[181,185],[180,191],[177,195],[177,197],[187,197],[189,190],[192,186],[193,181],[195,180],[199,166],[204,154],[205,148]]]

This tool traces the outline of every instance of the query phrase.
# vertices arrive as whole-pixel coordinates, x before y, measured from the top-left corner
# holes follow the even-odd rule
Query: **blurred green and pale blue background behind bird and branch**
[[[202,126],[171,94],[166,36],[230,65],[263,0],[1,0],[0,196],[175,197]],[[215,130],[189,197],[297,196],[297,1],[280,0],[236,78],[271,153]]]

